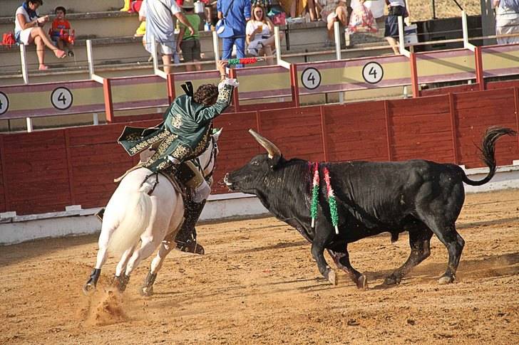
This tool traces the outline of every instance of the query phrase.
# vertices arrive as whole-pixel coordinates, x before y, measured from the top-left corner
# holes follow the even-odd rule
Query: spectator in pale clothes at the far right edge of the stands
[[[495,34],[519,34],[519,0],[494,0]],[[519,36],[498,37],[498,44],[519,43]]]

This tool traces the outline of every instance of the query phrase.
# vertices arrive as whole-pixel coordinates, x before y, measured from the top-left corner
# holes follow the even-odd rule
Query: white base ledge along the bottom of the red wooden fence
[[[488,168],[468,169],[472,180],[483,179]],[[519,161],[512,166],[500,166],[493,179],[483,186],[465,185],[466,193],[519,189]],[[70,206],[67,211],[16,216],[14,212],[0,213],[0,245],[21,243],[37,238],[86,235],[101,231],[101,222],[95,213],[99,208],[86,210]],[[210,196],[200,219],[211,221],[222,218],[247,218],[269,214],[258,198],[244,193]]]

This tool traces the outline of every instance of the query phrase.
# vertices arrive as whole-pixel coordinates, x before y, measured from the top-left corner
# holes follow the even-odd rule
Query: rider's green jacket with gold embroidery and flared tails
[[[152,128],[127,126],[118,143],[133,156],[160,142],[158,149],[143,165],[153,172],[167,169],[172,164],[168,156],[178,161],[193,159],[207,149],[212,119],[230,105],[233,89],[231,85],[223,85],[215,105],[210,107],[195,102],[188,95],[179,96],[164,113],[163,122]]]

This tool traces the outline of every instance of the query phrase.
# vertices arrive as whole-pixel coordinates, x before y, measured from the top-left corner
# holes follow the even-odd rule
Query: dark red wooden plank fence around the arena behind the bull
[[[517,87],[408,100],[293,107],[221,115],[216,181],[263,152],[253,128],[284,156],[312,161],[431,159],[483,166],[474,144],[490,125],[519,129]],[[150,127],[159,120],[133,122]],[[0,211],[63,211],[103,206],[136,158],[115,143],[127,123],[0,135]],[[499,165],[519,159],[519,139],[497,146]],[[215,184],[213,193],[226,189]]]

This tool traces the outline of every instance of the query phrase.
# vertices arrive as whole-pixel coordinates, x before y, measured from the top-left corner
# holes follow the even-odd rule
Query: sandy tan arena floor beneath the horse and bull
[[[205,256],[174,251],[153,297],[106,292],[110,258],[93,297],[81,287],[97,236],[0,247],[1,344],[514,344],[519,341],[519,191],[468,195],[458,219],[466,240],[458,281],[438,285],[446,248],[396,287],[382,282],[406,260],[408,236],[349,246],[369,278],[319,277],[309,244],[274,218],[199,226]],[[330,263],[332,260],[327,257]]]

